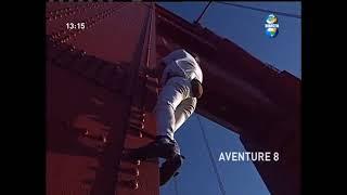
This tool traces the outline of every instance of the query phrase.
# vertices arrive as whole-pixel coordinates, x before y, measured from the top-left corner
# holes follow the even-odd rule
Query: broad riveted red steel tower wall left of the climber
[[[145,99],[133,93],[146,91],[143,58],[155,64],[153,14],[151,3],[47,3],[47,194],[158,194],[157,161],[142,162],[137,176],[121,157],[124,146],[150,141],[131,134],[130,108],[136,95]],[[150,114],[144,122],[155,134]],[[138,190],[118,180],[129,173]]]

